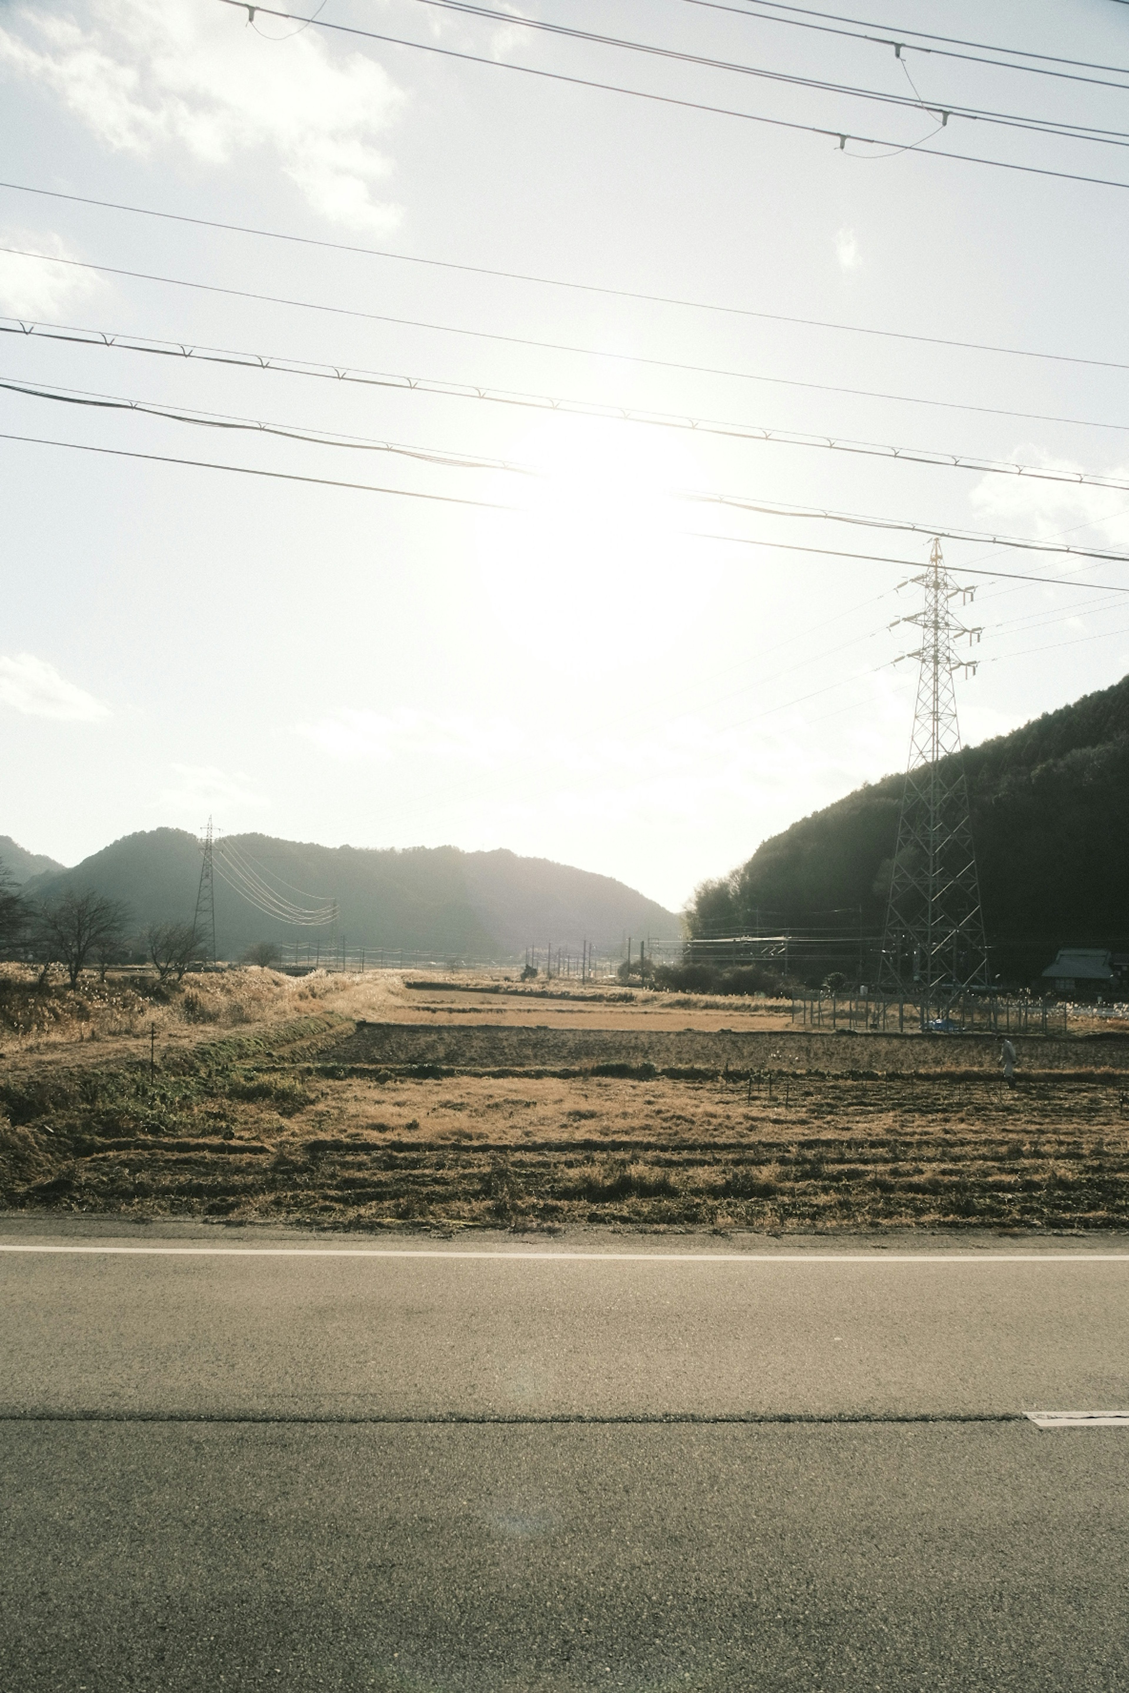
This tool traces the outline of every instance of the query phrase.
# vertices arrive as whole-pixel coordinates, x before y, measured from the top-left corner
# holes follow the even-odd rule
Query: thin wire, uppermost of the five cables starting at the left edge
[[[96,200],[91,195],[68,195],[56,188],[32,188],[27,183],[0,181],[0,188],[7,188],[14,193],[22,193],[22,195],[39,195],[47,200],[66,200],[71,205],[98,207],[103,212],[127,212],[132,217],[152,217],[169,223],[188,223],[193,229],[218,229],[232,235],[256,235],[262,240],[284,240],[300,247],[320,247],[327,252],[352,252],[367,259],[391,259],[398,264],[423,264],[432,269],[459,271],[467,276],[489,276],[494,279],[511,281],[511,283],[533,283],[540,288],[565,288],[572,293],[603,295],[604,298],[609,300],[635,300],[645,305],[679,306],[689,312],[718,312],[726,317],[748,317],[765,323],[792,323],[797,328],[828,328],[834,330],[836,334],[846,334],[846,335],[877,335],[884,340],[909,340],[922,347],[956,347],[963,352],[995,352],[1004,357],[1014,357],[1014,359],[1044,359],[1053,364],[1080,364],[1102,371],[1129,371],[1129,361],[1122,362],[1115,359],[1085,359],[1068,352],[1038,352],[1029,347],[1005,347],[982,340],[955,340],[945,335],[914,335],[909,334],[907,330],[873,328],[865,323],[838,323],[833,318],[790,317],[784,312],[758,312],[753,306],[731,306],[713,300],[686,300],[677,295],[652,295],[631,288],[609,288],[601,283],[577,283],[560,276],[537,276],[528,271],[504,271],[486,264],[462,264],[454,259],[428,259],[411,252],[393,252],[386,247],[361,247],[354,245],[352,242],[322,240],[313,235],[293,235],[284,230],[257,229],[249,223],[223,223],[218,218],[190,217],[184,212],[161,212],[154,207],[134,207],[134,205],[125,205],[124,201],[118,200]],[[15,247],[5,247],[2,251],[19,252],[19,249]],[[52,254],[25,254],[25,256],[37,259],[52,257]],[[56,262],[76,264],[81,261],[56,259]],[[174,281],[173,278],[149,278],[146,273],[140,271],[115,271],[112,274],[134,276],[140,278],[142,281]],[[184,283],[181,286],[191,288],[207,284]],[[249,298],[262,300],[269,296],[251,295]]]

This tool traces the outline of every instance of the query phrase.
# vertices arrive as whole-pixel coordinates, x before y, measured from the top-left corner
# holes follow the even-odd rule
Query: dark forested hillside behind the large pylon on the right
[[[1129,950],[1129,676],[963,762],[994,973],[1029,982],[1071,943]],[[880,933],[902,782],[856,789],[704,882],[691,931],[838,921]]]

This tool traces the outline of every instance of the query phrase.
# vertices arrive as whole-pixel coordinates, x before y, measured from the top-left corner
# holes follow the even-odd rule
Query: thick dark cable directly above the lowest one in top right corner
[[[443,12],[457,12],[464,17],[481,17],[504,22],[520,29],[538,30],[540,34],[560,36],[567,41],[584,41],[599,47],[616,47],[625,52],[640,52],[647,58],[667,59],[677,64],[691,64],[699,69],[728,71],[736,76],[755,76],[770,83],[782,83],[789,88],[811,88],[816,93],[845,95],[851,100],[870,100],[878,105],[892,105],[900,110],[926,112],[939,117],[943,125],[951,117],[970,122],[1000,125],[1004,129],[1027,130],[1038,135],[1058,135],[1068,141],[1090,141],[1104,146],[1124,147],[1129,144],[1126,130],[1095,129],[1088,124],[1070,124],[1058,119],[1031,119],[1017,112],[995,112],[982,107],[963,107],[956,102],[922,100],[921,97],[894,95],[877,88],[858,88],[853,83],[828,83],[816,76],[799,76],[790,71],[772,71],[760,64],[740,64],[731,59],[713,59],[699,52],[684,52],[677,47],[660,47],[652,42],[630,41],[623,36],[601,36],[591,29],[577,29],[570,24],[552,24],[547,19],[523,17],[518,12],[499,12],[493,7],[474,5],[471,0],[418,0],[420,5],[437,7]],[[259,10],[256,7],[256,10]]]

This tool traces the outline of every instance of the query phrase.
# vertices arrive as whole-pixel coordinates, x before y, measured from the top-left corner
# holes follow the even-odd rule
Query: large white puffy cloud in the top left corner
[[[322,217],[355,230],[398,222],[371,190],[391,173],[376,137],[405,97],[376,59],[333,56],[313,30],[273,42],[198,0],[80,0],[69,15],[5,17],[0,71],[51,90],[103,146],[183,147],[208,164],[267,149]]]

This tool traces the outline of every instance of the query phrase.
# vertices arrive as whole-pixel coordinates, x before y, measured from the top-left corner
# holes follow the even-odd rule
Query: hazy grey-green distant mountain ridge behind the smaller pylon
[[[49,899],[68,887],[95,889],[129,904],[132,926],[144,933],[151,923],[193,916],[200,865],[193,835],[151,830],[103,846],[73,870],[37,875],[27,892]],[[303,957],[306,943],[322,950],[328,943],[328,928],[296,928],[257,911],[232,885],[245,887],[249,875],[300,906],[337,901],[339,938],[350,951],[403,948],[438,958],[501,960],[550,943],[577,955],[586,938],[598,950],[618,953],[628,935],[680,935],[679,918],[635,889],[548,858],[501,850],[465,853],[455,846],[383,852],[235,835],[215,848],[220,957],[237,958],[264,940],[283,945],[286,955],[300,945]]]

